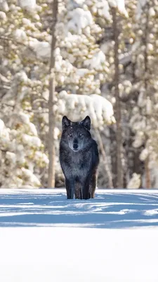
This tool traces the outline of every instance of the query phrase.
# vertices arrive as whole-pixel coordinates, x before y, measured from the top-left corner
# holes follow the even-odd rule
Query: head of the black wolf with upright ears
[[[91,139],[90,129],[91,118],[89,116],[78,122],[70,121],[67,116],[62,118],[62,138],[74,152],[86,148],[88,141]]]

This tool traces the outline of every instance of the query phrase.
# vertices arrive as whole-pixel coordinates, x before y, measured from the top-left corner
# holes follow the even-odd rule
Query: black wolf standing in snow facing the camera
[[[62,118],[60,165],[65,175],[67,199],[89,199],[96,190],[98,145],[91,137],[91,119],[72,122]]]

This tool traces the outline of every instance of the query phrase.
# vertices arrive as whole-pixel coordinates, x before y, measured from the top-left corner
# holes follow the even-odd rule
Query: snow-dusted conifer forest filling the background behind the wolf
[[[0,188],[63,187],[91,116],[98,188],[158,188],[158,1],[0,0]]]

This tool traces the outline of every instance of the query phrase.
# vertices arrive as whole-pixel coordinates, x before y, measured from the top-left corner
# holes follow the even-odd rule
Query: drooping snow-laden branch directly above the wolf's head
[[[72,120],[91,116],[95,126],[103,127],[104,124],[114,123],[112,104],[98,94],[67,94],[62,91],[58,95],[56,110],[60,115],[67,115]]]

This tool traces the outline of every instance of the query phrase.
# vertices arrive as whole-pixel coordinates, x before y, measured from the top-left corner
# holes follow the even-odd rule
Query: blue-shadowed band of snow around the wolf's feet
[[[88,201],[67,200],[63,189],[0,189],[0,195],[0,226],[158,226],[158,216],[145,216],[158,210],[158,190],[97,190]]]

